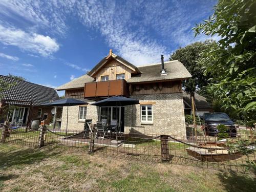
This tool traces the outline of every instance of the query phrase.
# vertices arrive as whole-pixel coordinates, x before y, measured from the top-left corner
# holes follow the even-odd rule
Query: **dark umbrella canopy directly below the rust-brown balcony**
[[[139,100],[131,99],[123,96],[113,96],[113,97],[92,103],[92,105],[96,105],[96,106],[126,106],[131,104],[139,104]]]

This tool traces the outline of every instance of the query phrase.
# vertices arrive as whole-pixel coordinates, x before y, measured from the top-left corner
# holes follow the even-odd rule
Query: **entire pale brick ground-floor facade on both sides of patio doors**
[[[185,115],[182,93],[132,95],[140,102],[152,102],[153,123],[141,123],[140,104],[124,107],[124,132],[136,132],[145,135],[175,135],[186,136]],[[86,119],[98,120],[99,108],[87,105]],[[84,121],[79,121],[79,106],[69,106],[69,130],[83,130]],[[63,107],[61,129],[66,129],[67,107]]]

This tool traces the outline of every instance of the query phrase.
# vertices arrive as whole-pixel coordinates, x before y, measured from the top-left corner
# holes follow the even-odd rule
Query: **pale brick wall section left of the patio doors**
[[[63,106],[61,129],[66,129],[67,126],[67,106]],[[98,120],[98,107],[94,105],[87,105],[86,119],[92,119],[96,124]],[[83,130],[84,121],[79,121],[79,106],[69,106],[68,130]]]

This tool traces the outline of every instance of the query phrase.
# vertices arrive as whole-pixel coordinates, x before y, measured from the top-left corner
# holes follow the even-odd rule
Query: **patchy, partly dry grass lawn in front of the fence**
[[[0,144],[1,191],[255,191],[255,176]]]

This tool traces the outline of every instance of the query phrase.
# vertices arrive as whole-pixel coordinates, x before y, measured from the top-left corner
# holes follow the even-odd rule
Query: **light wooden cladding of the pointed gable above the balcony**
[[[109,75],[109,80],[116,80],[117,74],[124,73],[125,80],[131,78],[131,73],[134,71],[124,66],[122,63],[115,59],[110,59],[105,65],[93,75],[96,81],[101,81],[101,76]]]

